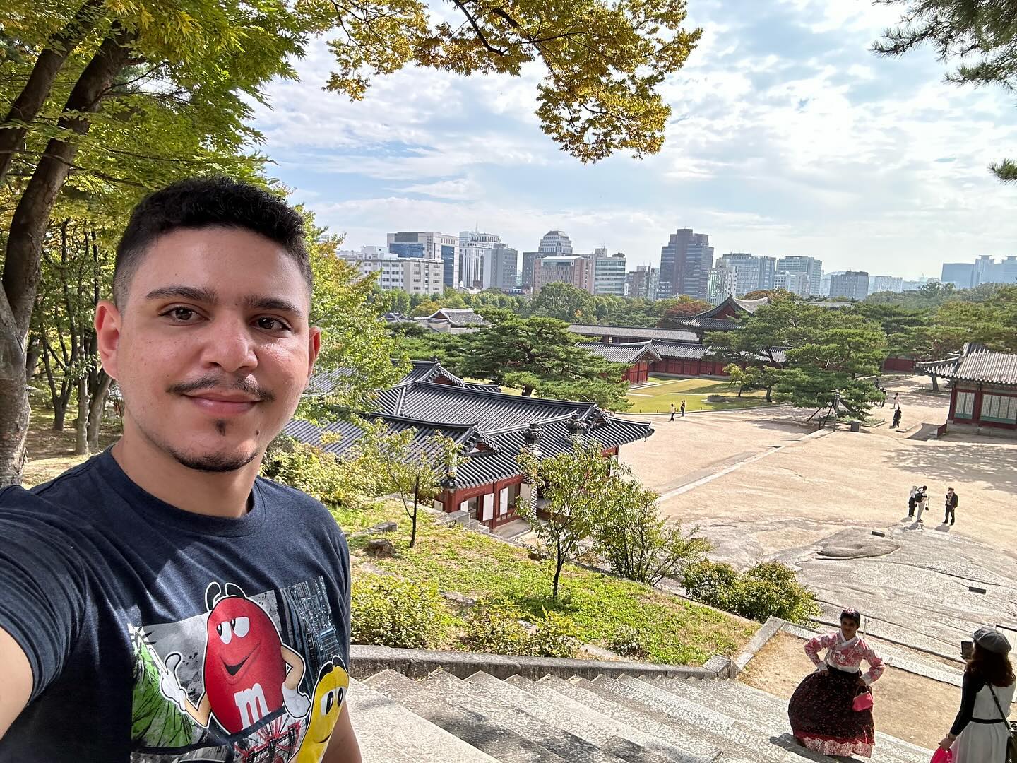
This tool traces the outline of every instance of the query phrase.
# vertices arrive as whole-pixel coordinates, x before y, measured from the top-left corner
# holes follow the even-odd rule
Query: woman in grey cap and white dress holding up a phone
[[[940,747],[953,751],[953,763],[1005,763],[1010,760],[1010,703],[1014,669],[1010,642],[995,628],[979,628],[961,686],[960,710]]]

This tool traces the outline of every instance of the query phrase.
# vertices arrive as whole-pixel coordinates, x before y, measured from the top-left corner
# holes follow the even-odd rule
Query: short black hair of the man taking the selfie
[[[178,180],[142,198],[117,246],[113,301],[123,309],[130,282],[152,244],[181,228],[241,228],[275,241],[293,258],[311,293],[314,282],[300,214],[279,196],[233,178]]]

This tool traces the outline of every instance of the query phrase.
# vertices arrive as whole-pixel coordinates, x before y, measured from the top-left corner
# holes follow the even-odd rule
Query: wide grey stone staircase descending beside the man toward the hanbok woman
[[[385,669],[351,680],[365,763],[760,763],[830,761],[800,748],[786,702],[736,681],[545,676],[504,681]],[[932,751],[878,733],[876,763]]]

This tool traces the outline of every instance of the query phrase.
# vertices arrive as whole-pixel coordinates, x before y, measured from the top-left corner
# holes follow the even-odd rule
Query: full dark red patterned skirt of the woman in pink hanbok
[[[862,691],[857,672],[830,667],[826,674],[806,676],[787,705],[794,736],[822,755],[872,757],[876,746],[873,711],[859,712],[851,706]]]

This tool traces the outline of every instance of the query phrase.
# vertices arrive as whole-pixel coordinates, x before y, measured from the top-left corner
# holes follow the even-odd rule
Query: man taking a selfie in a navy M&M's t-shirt
[[[2,763],[359,763],[346,540],[257,476],[319,349],[303,236],[222,178],[135,208],[96,310],[123,434],[0,490]]]

